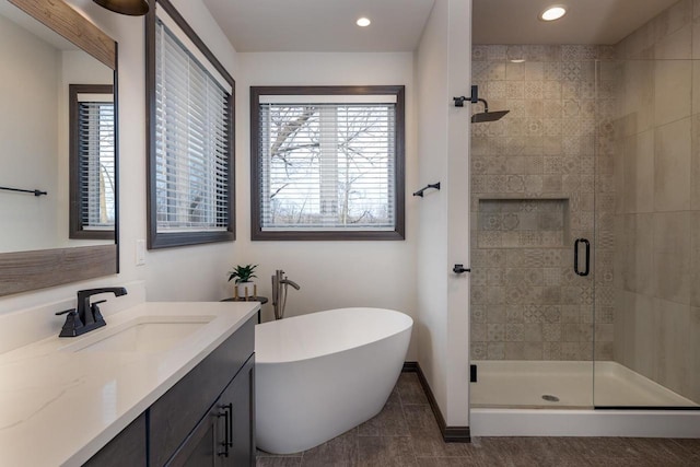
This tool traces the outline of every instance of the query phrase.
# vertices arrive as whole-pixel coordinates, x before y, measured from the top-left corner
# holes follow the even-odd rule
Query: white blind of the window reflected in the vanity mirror
[[[83,230],[112,230],[115,220],[114,103],[80,94],[78,100],[80,221]]]

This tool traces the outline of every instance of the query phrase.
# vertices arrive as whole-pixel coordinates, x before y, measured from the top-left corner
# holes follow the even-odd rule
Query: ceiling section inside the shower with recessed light
[[[617,44],[678,0],[472,0],[474,44]],[[564,17],[538,19],[565,5]]]

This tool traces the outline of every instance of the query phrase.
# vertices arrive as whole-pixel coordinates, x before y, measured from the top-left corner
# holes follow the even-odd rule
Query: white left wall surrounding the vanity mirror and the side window
[[[236,260],[233,243],[153,250],[147,254],[145,266],[135,266],[136,240],[145,238],[147,234],[143,17],[116,14],[91,0],[68,0],[68,3],[118,43],[121,272],[93,281],[0,297],[0,314],[72,299],[78,289],[138,280],[145,281],[150,301],[208,301],[226,296],[224,273]],[[173,3],[224,67],[237,78],[236,52],[202,2],[173,0]],[[58,317],[37,316],[37,319],[56,320],[60,328],[61,319]]]

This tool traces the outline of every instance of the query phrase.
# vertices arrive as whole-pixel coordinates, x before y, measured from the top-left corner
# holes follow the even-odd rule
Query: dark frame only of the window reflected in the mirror
[[[79,94],[109,94],[113,96],[115,103],[115,184],[117,177],[117,160],[118,160],[118,151],[117,151],[117,106],[116,106],[116,96],[114,92],[114,86],[112,84],[70,84],[68,87],[69,94],[69,238],[75,240],[112,240],[116,238],[115,230],[113,227],[110,230],[85,230],[83,224],[83,212],[82,212],[82,186],[81,186],[81,163],[80,163],[80,126],[79,124],[79,113],[80,113],[80,103],[78,101]],[[117,199],[118,194],[115,189],[115,225],[117,222]]]

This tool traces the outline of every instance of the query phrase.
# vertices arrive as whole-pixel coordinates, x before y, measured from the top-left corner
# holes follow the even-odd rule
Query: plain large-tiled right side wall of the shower
[[[700,402],[700,1],[618,57],[615,359]]]

